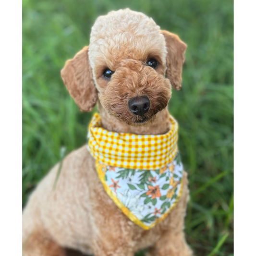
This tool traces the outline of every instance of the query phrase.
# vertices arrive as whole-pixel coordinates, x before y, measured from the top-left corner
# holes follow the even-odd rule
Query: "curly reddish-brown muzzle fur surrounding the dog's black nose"
[[[147,96],[150,100],[150,109],[143,116],[134,115],[128,108],[128,100],[137,96]],[[170,98],[170,81],[141,61],[134,60],[122,61],[99,95],[105,109],[128,125],[147,122],[166,108]]]

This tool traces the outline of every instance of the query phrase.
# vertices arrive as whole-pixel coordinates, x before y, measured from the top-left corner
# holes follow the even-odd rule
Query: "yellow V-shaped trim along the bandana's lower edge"
[[[106,165],[101,164],[98,160],[96,160],[96,170],[98,172],[98,177],[99,177],[101,183],[103,184],[103,187],[104,187],[106,193],[114,201],[116,206],[119,207],[122,210],[124,215],[126,215],[131,221],[133,221],[136,225],[140,226],[144,230],[149,230],[149,229],[155,227],[160,221],[164,220],[169,215],[169,213],[177,206],[177,204],[180,201],[180,198],[182,196],[182,192],[183,192],[183,179],[182,179],[182,182],[181,182],[181,188],[180,188],[179,194],[178,194],[175,202],[172,204],[172,206],[159,219],[157,219],[151,225],[147,226],[141,220],[139,220],[136,216],[134,216],[134,214],[127,207],[125,207],[122,204],[122,202],[118,199],[118,197],[115,195],[115,193],[110,189],[110,186],[107,184],[107,182],[105,180],[105,175],[106,175],[105,172],[107,170]]]

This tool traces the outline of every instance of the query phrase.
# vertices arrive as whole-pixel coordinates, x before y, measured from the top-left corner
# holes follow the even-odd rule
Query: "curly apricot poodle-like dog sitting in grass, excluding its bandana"
[[[113,11],[98,17],[89,46],[66,62],[61,77],[80,110],[97,104],[105,130],[158,136],[170,129],[167,104],[171,87],[182,87],[186,48],[145,14]],[[39,183],[21,217],[22,256],[66,256],[64,248],[95,256],[134,256],[144,248],[147,256],[193,255],[183,232],[189,199],[185,171],[177,205],[145,230],[106,193],[96,162],[85,145]]]

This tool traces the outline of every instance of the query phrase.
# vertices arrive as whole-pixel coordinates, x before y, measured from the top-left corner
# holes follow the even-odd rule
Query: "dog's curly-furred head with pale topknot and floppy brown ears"
[[[181,89],[185,50],[145,14],[110,12],[97,19],[89,47],[66,62],[61,76],[81,110],[91,111],[98,99],[110,115],[138,125],[167,107],[171,86]]]

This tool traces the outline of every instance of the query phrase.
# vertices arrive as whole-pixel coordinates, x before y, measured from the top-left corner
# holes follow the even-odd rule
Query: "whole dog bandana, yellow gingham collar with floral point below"
[[[183,186],[178,153],[178,123],[170,115],[166,134],[109,132],[96,113],[89,126],[88,149],[105,191],[122,212],[145,230],[165,219]]]

